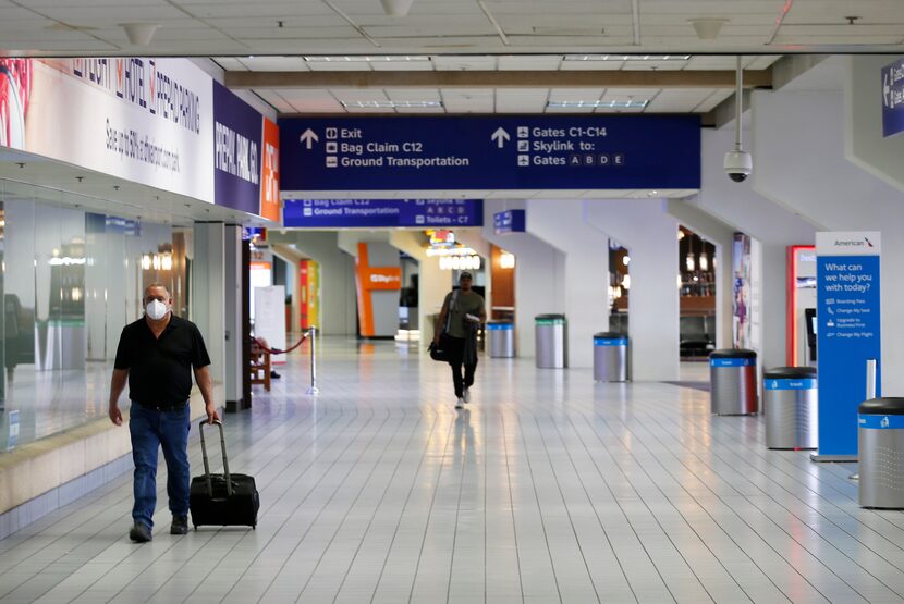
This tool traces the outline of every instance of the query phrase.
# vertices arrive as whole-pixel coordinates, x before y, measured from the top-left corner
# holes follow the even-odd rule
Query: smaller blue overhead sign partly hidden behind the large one
[[[484,200],[286,199],[283,224],[296,229],[482,226]]]

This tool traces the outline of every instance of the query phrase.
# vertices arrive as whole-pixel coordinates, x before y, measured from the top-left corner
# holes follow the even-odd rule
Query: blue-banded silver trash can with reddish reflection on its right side
[[[731,348],[709,355],[712,412],[720,416],[755,415],[757,400],[757,354]]]

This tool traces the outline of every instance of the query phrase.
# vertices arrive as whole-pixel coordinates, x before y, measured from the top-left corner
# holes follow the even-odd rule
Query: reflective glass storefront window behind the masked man
[[[0,180],[0,453],[106,417],[145,285],[166,283],[187,308],[185,233],[77,201]]]

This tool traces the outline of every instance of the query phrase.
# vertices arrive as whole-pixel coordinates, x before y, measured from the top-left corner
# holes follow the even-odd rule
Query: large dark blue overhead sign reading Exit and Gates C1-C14
[[[700,187],[695,115],[286,118],[290,192]]]

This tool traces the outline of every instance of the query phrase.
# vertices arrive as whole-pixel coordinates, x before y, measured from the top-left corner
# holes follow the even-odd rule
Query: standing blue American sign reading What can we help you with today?
[[[819,455],[857,455],[867,360],[881,359],[879,233],[816,234]],[[877,362],[881,371],[881,362]],[[877,374],[877,396],[881,375]]]

